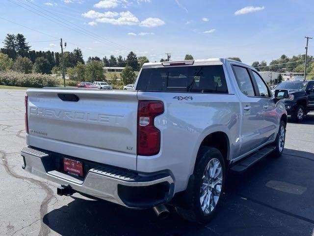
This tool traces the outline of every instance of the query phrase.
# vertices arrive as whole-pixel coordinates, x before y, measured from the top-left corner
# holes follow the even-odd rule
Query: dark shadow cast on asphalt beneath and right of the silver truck
[[[301,197],[304,198],[302,200],[304,202],[310,203],[312,201],[314,191],[311,183],[305,183],[302,180],[304,178],[300,176],[298,179],[298,176],[301,167],[308,169],[311,167],[310,169],[313,170],[314,154],[290,149],[285,149],[284,153],[286,154],[281,158],[264,158],[243,174],[228,174],[221,209],[207,225],[184,221],[173,208],[169,208],[171,213],[166,220],[160,220],[152,209],[129,209],[101,200],[82,199],[78,194],[72,196],[73,201],[68,205],[47,213],[43,222],[51,230],[63,236],[249,236],[262,234],[293,235],[293,232],[311,236],[311,233],[303,232],[301,227],[304,230],[310,228],[312,232],[314,224],[311,224],[311,220],[314,222],[314,216],[313,219],[309,219],[309,223],[283,214],[282,211],[290,210],[285,208],[287,204],[273,203],[274,206],[266,206],[268,204],[267,199],[272,197],[277,199],[279,203],[288,201],[289,205],[298,205],[300,201],[300,198],[293,198],[294,196],[290,198],[287,197],[286,193],[265,187],[265,183],[272,179],[285,182],[291,182],[293,179],[294,184],[302,186],[308,184],[306,186],[308,194]],[[295,162],[298,163],[298,169],[294,171],[291,166],[295,165]],[[310,181],[314,178],[314,173],[308,173],[312,173],[305,173]],[[252,200],[246,199],[247,197]],[[276,210],[276,207],[280,210]],[[300,208],[292,213],[302,215]],[[304,215],[303,217],[311,218],[311,215]],[[297,226],[293,228],[296,224]]]

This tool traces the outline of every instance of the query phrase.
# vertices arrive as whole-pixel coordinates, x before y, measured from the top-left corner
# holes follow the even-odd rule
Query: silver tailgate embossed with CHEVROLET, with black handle
[[[28,89],[26,93],[29,146],[136,170],[136,91]],[[67,101],[68,94],[79,100]]]

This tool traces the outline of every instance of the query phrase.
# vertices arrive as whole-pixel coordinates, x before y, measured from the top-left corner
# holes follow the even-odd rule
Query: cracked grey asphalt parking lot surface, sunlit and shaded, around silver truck
[[[0,89],[0,235],[2,236],[314,236],[314,114],[288,123],[284,155],[229,175],[224,201],[207,225],[172,211],[131,210],[79,194],[60,197],[57,184],[26,173],[25,90]]]

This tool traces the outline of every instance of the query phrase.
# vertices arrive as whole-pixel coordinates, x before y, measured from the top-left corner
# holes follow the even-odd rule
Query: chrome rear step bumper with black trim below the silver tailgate
[[[59,153],[26,147],[21,150],[21,155],[24,161],[22,168],[27,172],[69,186],[73,192],[125,207],[155,207],[169,202],[174,195],[174,178],[167,171],[137,173],[93,163],[93,168],[86,171],[85,177],[80,178],[55,168],[53,160],[63,156]],[[81,161],[84,164],[84,160]]]

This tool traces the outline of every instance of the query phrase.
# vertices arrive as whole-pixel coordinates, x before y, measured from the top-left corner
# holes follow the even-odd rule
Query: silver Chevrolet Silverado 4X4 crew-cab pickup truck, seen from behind
[[[288,91],[230,59],[145,63],[130,91],[27,89],[23,169],[130,208],[205,223],[228,170],[285,145]]]

